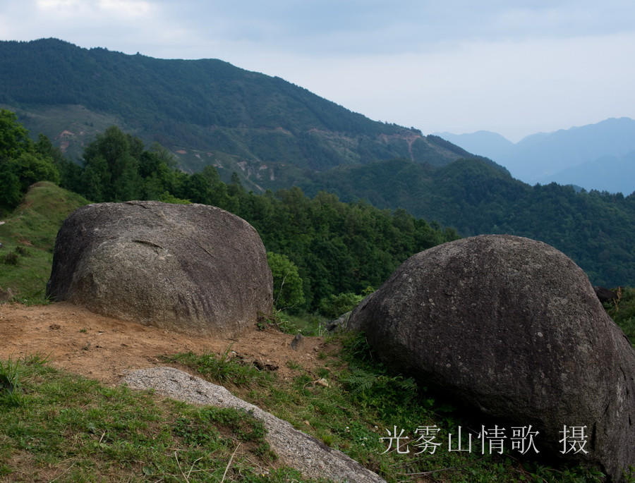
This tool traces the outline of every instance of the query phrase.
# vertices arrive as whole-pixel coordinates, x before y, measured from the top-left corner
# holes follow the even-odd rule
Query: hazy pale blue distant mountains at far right
[[[514,144],[497,133],[437,133],[505,166],[529,184],[551,182],[629,195],[635,190],[635,121],[600,123],[537,133]]]

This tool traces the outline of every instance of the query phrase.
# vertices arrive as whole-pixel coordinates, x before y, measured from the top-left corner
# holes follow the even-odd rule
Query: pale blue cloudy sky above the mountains
[[[635,118],[632,0],[2,0],[0,39],[222,59],[424,134]]]

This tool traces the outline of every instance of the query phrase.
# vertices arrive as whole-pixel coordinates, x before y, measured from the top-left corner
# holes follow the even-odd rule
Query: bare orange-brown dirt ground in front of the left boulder
[[[188,350],[221,354],[230,345],[244,360],[277,366],[278,376],[286,379],[291,376],[289,360],[311,371],[318,353],[332,350],[318,337],[303,338],[294,350],[293,338],[255,328],[240,338],[205,338],[102,317],[66,302],[32,307],[0,304],[0,359],[41,353],[49,355],[54,367],[106,384],[118,384],[130,369],[166,365],[159,355]]]

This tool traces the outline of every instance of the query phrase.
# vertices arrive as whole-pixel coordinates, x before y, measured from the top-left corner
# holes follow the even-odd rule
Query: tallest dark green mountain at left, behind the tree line
[[[215,59],[152,59],[56,39],[0,42],[0,85],[0,104],[73,159],[116,124],[167,147],[188,172],[214,164],[226,181],[238,171],[256,189],[281,188],[271,182],[289,166],[322,171],[395,157],[440,166],[471,156]]]

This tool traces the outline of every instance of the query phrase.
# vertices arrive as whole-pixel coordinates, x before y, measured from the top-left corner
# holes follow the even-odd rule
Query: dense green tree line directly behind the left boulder
[[[2,111],[0,119],[0,181],[13,183],[0,207],[15,207],[31,183],[46,180],[92,202],[159,200],[226,209],[260,233],[279,308],[313,311],[329,297],[368,292],[414,253],[459,238],[452,228],[404,209],[344,203],[327,192],[310,198],[300,188],[255,194],[238,175],[221,181],[214,166],[184,173],[166,149],[147,148],[115,126],[97,135],[75,164],[46,137],[32,142],[14,114]]]

